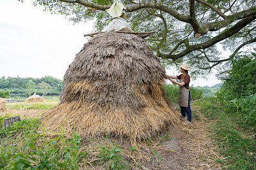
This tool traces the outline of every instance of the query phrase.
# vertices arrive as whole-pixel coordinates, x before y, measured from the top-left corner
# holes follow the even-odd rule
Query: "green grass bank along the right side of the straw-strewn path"
[[[255,169],[256,141],[252,138],[253,131],[241,127],[236,113],[227,113],[225,106],[218,104],[214,97],[206,97],[195,104],[208,118],[207,121],[214,121],[209,128],[213,132],[212,139],[225,157],[217,160],[223,169]]]

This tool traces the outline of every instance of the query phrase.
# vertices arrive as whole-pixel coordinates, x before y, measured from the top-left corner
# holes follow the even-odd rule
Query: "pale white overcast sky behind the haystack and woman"
[[[83,34],[93,31],[93,21],[74,24],[43,9],[33,6],[32,0],[0,0],[0,77],[52,76],[63,80],[68,65],[87,42]],[[190,84],[211,87],[218,83],[221,81],[212,74]]]

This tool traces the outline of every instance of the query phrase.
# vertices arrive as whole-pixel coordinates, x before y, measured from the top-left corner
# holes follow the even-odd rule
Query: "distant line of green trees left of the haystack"
[[[17,78],[4,76],[0,78],[0,95],[2,91],[9,91],[11,97],[28,97],[35,93],[40,96],[58,96],[62,90],[62,80],[52,76],[42,78]]]

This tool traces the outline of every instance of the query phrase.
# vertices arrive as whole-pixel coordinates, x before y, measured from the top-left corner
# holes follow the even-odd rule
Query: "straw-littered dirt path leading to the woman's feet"
[[[205,117],[192,106],[191,110],[196,112],[199,120],[193,120],[191,125],[183,125],[186,120],[182,120],[180,126],[170,129],[168,138],[171,140],[157,145],[152,153],[152,161],[146,161],[140,167],[133,169],[221,169],[216,163],[221,159],[218,155],[217,147],[210,139]],[[180,115],[175,111],[177,116]],[[158,153],[159,156],[156,154]]]

